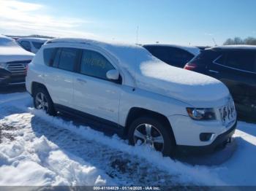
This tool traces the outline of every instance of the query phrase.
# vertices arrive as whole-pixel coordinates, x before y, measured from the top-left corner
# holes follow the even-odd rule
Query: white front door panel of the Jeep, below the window
[[[121,85],[103,79],[76,74],[74,108],[118,123]]]

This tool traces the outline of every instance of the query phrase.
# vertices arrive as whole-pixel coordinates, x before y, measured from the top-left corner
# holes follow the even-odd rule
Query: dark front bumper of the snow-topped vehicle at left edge
[[[26,72],[12,73],[5,69],[0,69],[0,85],[25,84]]]

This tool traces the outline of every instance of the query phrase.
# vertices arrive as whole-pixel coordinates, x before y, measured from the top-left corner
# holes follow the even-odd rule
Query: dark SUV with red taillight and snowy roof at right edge
[[[256,46],[222,46],[203,50],[184,69],[217,78],[227,85],[238,116],[256,121]]]

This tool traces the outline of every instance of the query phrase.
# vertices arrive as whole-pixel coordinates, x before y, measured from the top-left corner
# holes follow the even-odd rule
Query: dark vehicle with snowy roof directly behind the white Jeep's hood
[[[200,53],[198,47],[171,44],[145,44],[143,47],[159,60],[178,68],[183,68],[188,61]]]

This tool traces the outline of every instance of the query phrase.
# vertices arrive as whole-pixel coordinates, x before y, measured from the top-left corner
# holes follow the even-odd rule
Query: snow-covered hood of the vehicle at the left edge
[[[34,54],[20,46],[0,46],[0,62],[32,60]]]

